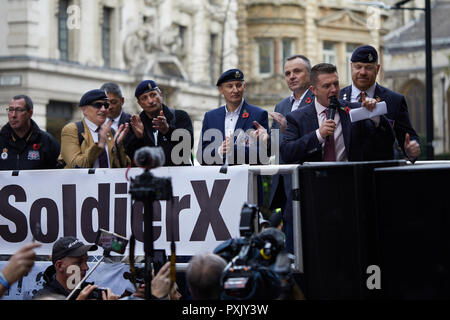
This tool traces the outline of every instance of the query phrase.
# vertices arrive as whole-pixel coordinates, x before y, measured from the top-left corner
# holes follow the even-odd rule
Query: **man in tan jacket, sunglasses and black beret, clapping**
[[[123,168],[131,163],[123,147],[128,124],[117,132],[106,121],[109,108],[105,91],[94,89],[80,99],[82,121],[69,123],[61,131],[61,157],[65,168]]]

